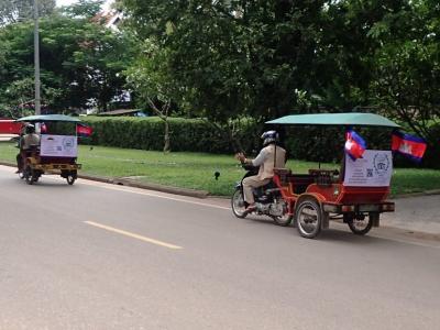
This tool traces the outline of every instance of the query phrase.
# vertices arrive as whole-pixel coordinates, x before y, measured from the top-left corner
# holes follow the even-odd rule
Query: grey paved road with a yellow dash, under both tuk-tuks
[[[318,240],[199,200],[0,166],[0,329],[438,329],[440,242]]]

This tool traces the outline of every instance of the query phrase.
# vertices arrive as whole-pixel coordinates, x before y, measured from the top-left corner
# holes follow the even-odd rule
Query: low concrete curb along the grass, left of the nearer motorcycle
[[[1,162],[1,161],[0,161],[0,165],[10,166],[10,167],[16,166],[15,164],[8,163],[8,162]],[[174,194],[174,195],[196,197],[196,198],[207,198],[209,196],[209,193],[206,190],[195,190],[195,189],[187,189],[187,188],[169,187],[169,186],[163,186],[163,185],[153,184],[153,183],[140,183],[140,182],[128,179],[128,178],[101,177],[101,176],[85,175],[85,174],[78,174],[78,177],[82,178],[82,179],[99,182],[99,183],[105,183],[105,184],[128,186],[128,187],[148,189],[148,190],[155,190],[155,191]]]

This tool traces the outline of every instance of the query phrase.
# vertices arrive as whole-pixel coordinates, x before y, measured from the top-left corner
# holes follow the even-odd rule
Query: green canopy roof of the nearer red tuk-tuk
[[[345,127],[383,127],[399,128],[398,124],[385,117],[374,113],[345,112],[345,113],[314,113],[290,114],[266,121],[268,124],[292,125],[345,125]]]

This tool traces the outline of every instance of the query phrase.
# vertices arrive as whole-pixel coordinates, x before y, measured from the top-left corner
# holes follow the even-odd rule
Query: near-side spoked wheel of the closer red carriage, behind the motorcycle
[[[314,199],[299,202],[295,212],[296,226],[302,238],[312,239],[321,231],[322,212],[319,204]]]

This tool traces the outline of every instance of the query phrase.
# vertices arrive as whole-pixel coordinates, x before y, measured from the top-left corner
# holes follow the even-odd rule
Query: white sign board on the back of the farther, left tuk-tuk
[[[75,135],[41,135],[40,154],[52,157],[76,157],[78,141]]]

